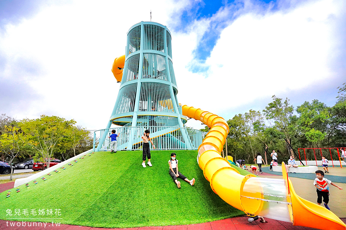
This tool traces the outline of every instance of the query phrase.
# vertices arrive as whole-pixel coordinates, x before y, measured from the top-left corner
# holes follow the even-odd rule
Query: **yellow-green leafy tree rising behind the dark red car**
[[[71,147],[70,133],[75,123],[73,119],[42,115],[37,119],[24,119],[20,124],[30,134],[30,145],[39,152],[49,168],[49,159],[55,151],[66,151]]]

